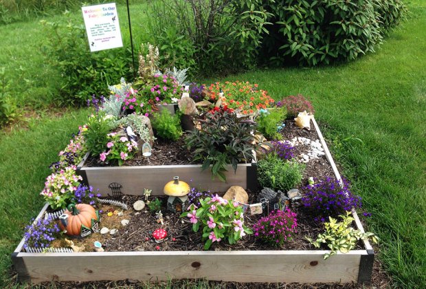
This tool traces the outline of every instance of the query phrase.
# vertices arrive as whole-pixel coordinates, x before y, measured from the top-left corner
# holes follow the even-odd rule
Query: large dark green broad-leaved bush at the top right
[[[400,0],[269,0],[264,8],[273,14],[273,27],[262,56],[301,65],[351,61],[374,52],[405,12]]]

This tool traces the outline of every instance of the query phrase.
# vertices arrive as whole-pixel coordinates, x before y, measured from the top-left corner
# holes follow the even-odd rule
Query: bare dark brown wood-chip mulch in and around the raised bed
[[[284,140],[291,140],[294,137],[310,138],[316,140],[318,138],[315,129],[308,131],[306,129],[299,129],[295,127],[294,122],[287,121],[286,127],[282,131]],[[157,140],[153,148],[153,156],[149,158],[139,157],[131,162],[126,162],[124,165],[163,165],[163,164],[189,164],[191,154],[184,148],[183,139],[178,142],[161,142]],[[299,156],[300,153],[306,153],[307,147],[298,146],[295,150],[295,156]],[[99,166],[96,160],[89,160],[89,165]],[[109,164],[104,164],[109,165]],[[302,185],[307,184],[307,180],[310,176],[316,178],[322,178],[324,176],[333,176],[333,170],[330,164],[326,160],[325,156],[322,158],[310,160],[306,164],[304,171],[304,178]],[[249,203],[256,203],[257,195],[259,192],[247,191],[249,193]],[[149,197],[148,200],[153,200],[154,197]],[[203,250],[203,242],[201,240],[201,234],[194,233],[192,231],[192,224],[188,221],[188,218],[180,218],[179,214],[171,213],[166,210],[167,196],[159,197],[161,200],[163,212],[164,224],[161,225],[157,222],[154,213],[148,211],[148,207],[144,210],[136,212],[133,210],[133,203],[136,200],[144,200],[144,196],[131,196],[125,195],[122,198],[122,202],[126,202],[129,210],[123,211],[124,215],[118,217],[113,215],[108,217],[106,214],[109,211],[114,211],[111,206],[100,206],[102,213],[102,222],[100,227],[108,226],[109,228],[118,228],[119,232],[117,235],[100,235],[92,234],[88,238],[76,240],[75,243],[78,246],[85,246],[86,250],[92,250],[93,242],[98,240],[102,243],[102,247],[106,251],[168,251],[168,250]],[[210,250],[315,250],[315,248],[309,244],[305,237],[311,237],[315,239],[318,233],[322,233],[323,228],[317,223],[313,222],[313,215],[306,210],[303,206],[298,204],[291,204],[291,210],[297,213],[298,218],[298,234],[293,239],[284,244],[282,248],[274,247],[269,244],[263,244],[258,242],[254,235],[247,235],[243,237],[237,244],[229,245],[227,242],[214,243]],[[118,209],[121,211],[120,209]],[[117,212],[116,212],[117,213]],[[250,215],[249,212],[245,213],[245,225],[253,226],[258,222],[262,215]],[[120,221],[127,219],[130,222],[127,226],[122,226]],[[154,242],[151,234],[156,228],[165,228],[168,232],[168,238],[158,244]],[[359,246],[361,248],[361,246]],[[324,247],[324,249],[327,249]],[[390,277],[385,274],[381,268],[381,264],[374,261],[374,268],[372,272],[372,282],[370,288],[388,288],[390,286]],[[188,288],[193,287],[197,281],[173,281],[170,288]],[[132,280],[124,281],[97,281],[97,282],[56,282],[58,288],[152,288],[153,285],[150,283],[137,282]],[[189,284],[189,285],[188,285]],[[194,285],[190,285],[194,284]],[[301,284],[301,283],[238,283],[238,282],[221,282],[221,281],[205,281],[209,287],[214,288],[366,288],[357,283],[351,284]],[[43,284],[43,286],[49,287],[51,283]],[[159,288],[164,288],[166,283],[157,283]]]

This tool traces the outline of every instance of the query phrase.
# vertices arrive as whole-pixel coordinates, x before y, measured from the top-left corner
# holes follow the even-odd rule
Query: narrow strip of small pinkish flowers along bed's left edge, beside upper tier
[[[86,125],[78,127],[78,133],[73,134],[73,138],[69,140],[67,147],[59,152],[59,162],[54,162],[50,165],[50,169],[55,173],[60,169],[69,167],[73,164],[81,162],[82,158],[87,153],[87,147],[85,145],[85,138],[82,135],[82,131],[87,130]]]

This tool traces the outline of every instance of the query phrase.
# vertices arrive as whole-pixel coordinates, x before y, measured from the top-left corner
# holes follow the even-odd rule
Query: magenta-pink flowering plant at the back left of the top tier
[[[137,114],[153,114],[155,105],[172,103],[181,97],[180,87],[174,76],[155,74],[150,83],[144,83],[139,90],[131,89],[124,98],[122,110],[135,111]]]

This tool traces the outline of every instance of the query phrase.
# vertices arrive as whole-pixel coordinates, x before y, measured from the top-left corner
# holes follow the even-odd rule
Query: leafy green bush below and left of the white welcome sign
[[[49,41],[42,47],[61,76],[60,105],[84,105],[91,95],[109,94],[108,85],[131,79],[131,52],[125,47],[90,52],[84,25],[42,21]]]

